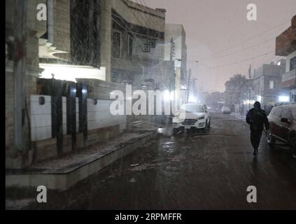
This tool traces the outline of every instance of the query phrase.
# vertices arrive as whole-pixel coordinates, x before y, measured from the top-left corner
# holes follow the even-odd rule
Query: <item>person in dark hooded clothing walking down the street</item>
[[[246,123],[250,125],[251,144],[254,148],[253,155],[258,155],[258,147],[264,129],[269,130],[269,122],[265,111],[261,109],[260,102],[255,102],[254,108],[248,111],[246,115]]]

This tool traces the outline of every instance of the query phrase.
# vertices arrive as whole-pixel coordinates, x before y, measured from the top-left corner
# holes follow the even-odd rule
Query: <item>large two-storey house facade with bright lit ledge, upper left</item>
[[[58,79],[94,78],[139,88],[154,79],[149,69],[167,67],[165,10],[128,0],[52,1],[50,29],[40,41],[42,77],[55,72]]]

